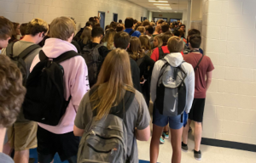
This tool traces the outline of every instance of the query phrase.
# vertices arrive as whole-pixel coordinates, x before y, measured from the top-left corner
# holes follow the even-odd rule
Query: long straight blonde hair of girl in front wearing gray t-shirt
[[[95,102],[92,110],[97,110],[97,120],[106,117],[111,108],[119,104],[125,95],[125,90],[135,93],[130,59],[124,49],[117,48],[108,53],[92,89],[95,87],[97,88],[90,95],[90,102]]]

